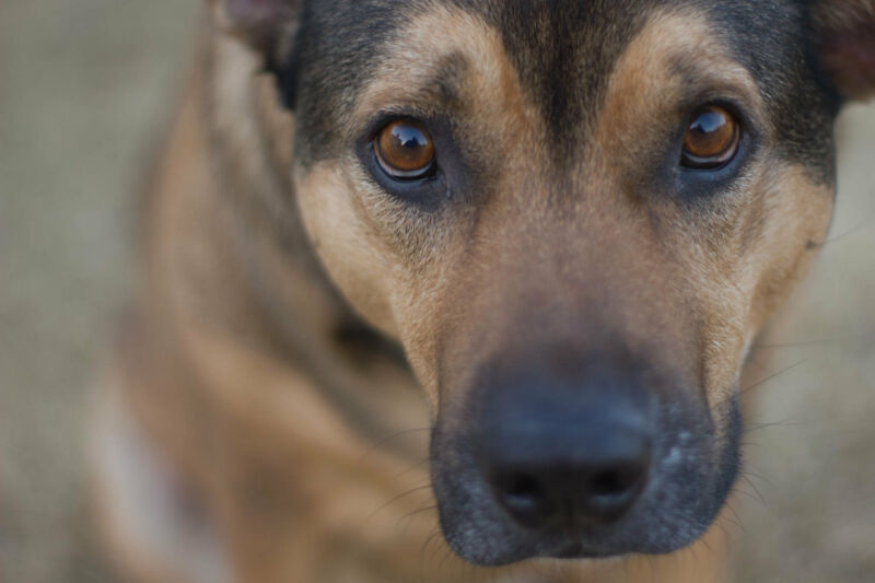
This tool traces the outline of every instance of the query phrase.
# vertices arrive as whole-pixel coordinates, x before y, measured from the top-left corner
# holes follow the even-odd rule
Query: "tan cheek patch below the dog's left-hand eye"
[[[399,217],[353,160],[299,165],[293,176],[305,231],[330,280],[371,326],[401,342],[436,407],[440,306],[450,256],[459,253],[452,233]]]

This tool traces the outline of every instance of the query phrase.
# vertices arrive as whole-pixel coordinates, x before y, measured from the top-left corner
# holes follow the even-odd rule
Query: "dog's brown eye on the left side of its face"
[[[434,167],[434,143],[422,125],[412,119],[399,119],[383,128],[374,151],[380,165],[393,178],[424,178]]]

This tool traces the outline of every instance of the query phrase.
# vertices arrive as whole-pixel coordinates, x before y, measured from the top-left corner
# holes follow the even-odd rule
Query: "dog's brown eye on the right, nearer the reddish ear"
[[[691,170],[719,168],[735,156],[739,138],[738,121],[731,113],[718,105],[702,107],[684,136],[680,164]]]

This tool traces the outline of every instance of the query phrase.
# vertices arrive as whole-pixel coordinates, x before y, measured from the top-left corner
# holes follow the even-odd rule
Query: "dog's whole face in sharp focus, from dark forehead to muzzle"
[[[747,350],[828,228],[875,4],[228,2],[273,51],[318,257],[433,406],[450,545],[697,539],[737,471]]]

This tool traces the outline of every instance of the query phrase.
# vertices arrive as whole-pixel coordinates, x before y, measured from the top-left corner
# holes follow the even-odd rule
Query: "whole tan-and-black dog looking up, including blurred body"
[[[873,0],[211,0],[98,394],[137,581],[722,581]]]

